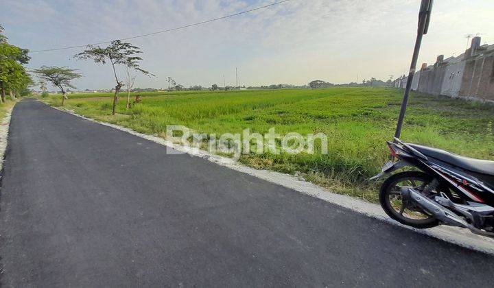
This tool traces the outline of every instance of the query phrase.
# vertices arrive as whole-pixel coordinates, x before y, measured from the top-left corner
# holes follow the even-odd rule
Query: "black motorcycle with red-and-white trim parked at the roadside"
[[[414,228],[440,224],[494,237],[494,161],[477,160],[445,150],[388,141],[395,161],[384,165],[377,180],[379,202],[392,219]],[[417,171],[418,170],[418,171]]]

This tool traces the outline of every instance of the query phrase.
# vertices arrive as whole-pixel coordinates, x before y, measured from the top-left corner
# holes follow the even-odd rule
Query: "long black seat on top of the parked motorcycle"
[[[432,147],[410,144],[410,143],[407,144],[413,147],[414,149],[417,149],[419,152],[421,152],[427,157],[436,158],[445,163],[449,163],[451,165],[460,167],[468,171],[494,176],[494,161],[479,160],[479,159],[456,155],[442,149],[436,149]]]

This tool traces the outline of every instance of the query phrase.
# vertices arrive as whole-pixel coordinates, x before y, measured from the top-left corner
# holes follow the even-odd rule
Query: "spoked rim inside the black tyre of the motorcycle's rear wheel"
[[[401,195],[402,188],[413,188],[417,191],[422,191],[428,184],[428,180],[420,176],[408,176],[398,178],[388,186],[386,193],[386,202],[391,213],[403,221],[413,222],[415,224],[423,224],[434,220],[434,217],[427,214],[418,206],[410,201],[403,199]]]

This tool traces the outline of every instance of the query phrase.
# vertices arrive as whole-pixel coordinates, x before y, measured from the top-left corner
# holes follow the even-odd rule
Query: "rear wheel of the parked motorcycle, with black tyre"
[[[401,224],[419,229],[438,226],[439,221],[436,218],[401,196],[402,187],[412,187],[422,191],[430,182],[432,177],[420,171],[405,171],[390,176],[379,190],[381,207],[389,217]]]

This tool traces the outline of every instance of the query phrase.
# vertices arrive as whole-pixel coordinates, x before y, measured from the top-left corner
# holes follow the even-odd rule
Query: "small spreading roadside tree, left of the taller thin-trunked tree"
[[[41,80],[50,82],[53,86],[56,86],[62,92],[62,106],[67,98],[67,88],[74,88],[71,84],[72,80],[82,77],[81,74],[75,72],[75,69],[69,67],[46,67],[42,66],[40,69],[34,69],[34,73],[38,74]]]

